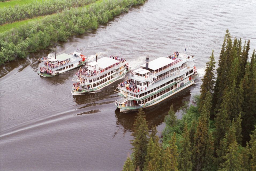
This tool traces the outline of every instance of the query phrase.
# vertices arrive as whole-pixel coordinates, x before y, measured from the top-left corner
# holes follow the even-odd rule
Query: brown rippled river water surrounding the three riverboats
[[[251,48],[256,48],[255,9],[253,0],[148,0],[96,31],[51,48],[58,55],[84,47],[89,61],[96,53],[103,57],[120,52],[135,69],[146,56],[153,60],[186,47],[201,76],[193,86],[145,110],[149,126],[157,125],[161,132],[170,105],[178,110],[199,93],[205,63],[212,49],[217,58],[226,29],[243,41],[250,38]],[[119,81],[95,93],[72,96],[78,69],[51,78],[36,73],[36,60],[51,52],[42,50],[1,66],[0,169],[121,170],[131,153],[136,112],[116,109],[114,90]],[[180,112],[177,115],[181,117]]]

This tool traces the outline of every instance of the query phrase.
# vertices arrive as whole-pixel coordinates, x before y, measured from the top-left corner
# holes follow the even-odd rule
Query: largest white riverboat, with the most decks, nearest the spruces
[[[178,52],[177,52],[178,53]],[[120,112],[151,107],[194,84],[199,77],[194,56],[159,57],[131,71],[118,85],[120,96],[115,106]]]

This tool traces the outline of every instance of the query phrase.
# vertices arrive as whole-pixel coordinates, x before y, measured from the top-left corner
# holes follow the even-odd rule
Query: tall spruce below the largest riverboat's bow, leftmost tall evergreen
[[[133,145],[132,161],[134,166],[139,166],[139,169],[142,170],[147,154],[148,125],[142,109],[137,114],[133,125],[134,132],[131,134],[134,137],[131,142]]]

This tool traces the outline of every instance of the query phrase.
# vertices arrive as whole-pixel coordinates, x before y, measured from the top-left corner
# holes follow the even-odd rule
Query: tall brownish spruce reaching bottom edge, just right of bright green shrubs
[[[199,117],[197,132],[194,136],[194,148],[193,148],[193,170],[201,171],[205,162],[206,146],[208,137],[207,118],[209,111],[205,105],[202,108],[201,116]]]

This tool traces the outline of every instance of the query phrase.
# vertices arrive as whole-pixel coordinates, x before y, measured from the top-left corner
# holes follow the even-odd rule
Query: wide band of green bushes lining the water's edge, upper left
[[[32,21],[0,33],[0,64],[27,57],[29,52],[45,49],[57,41],[66,41],[74,34],[84,34],[97,29],[114,16],[128,12],[129,7],[144,3],[145,0],[106,0],[93,3],[89,9],[63,10],[48,15],[40,21]]]

